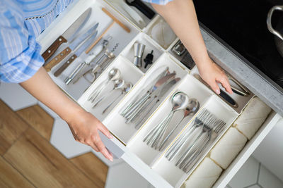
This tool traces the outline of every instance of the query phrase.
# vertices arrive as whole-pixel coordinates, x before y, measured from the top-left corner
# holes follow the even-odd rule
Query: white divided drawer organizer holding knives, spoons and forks
[[[108,15],[105,15],[105,13],[101,11],[101,8],[103,7],[115,15],[116,18],[121,20],[122,23],[127,25],[127,27],[129,27],[131,30],[130,33],[127,33],[125,30],[122,30],[120,26],[115,24],[108,31],[108,35],[112,36],[109,48],[112,49],[116,43],[119,43],[119,46],[117,46],[114,52],[117,57],[91,85],[88,84],[88,82],[86,82],[84,79],[80,79],[79,82],[76,82],[76,84],[66,85],[63,82],[64,78],[67,77],[72,70],[74,70],[76,65],[81,63],[83,57],[74,61],[74,63],[72,63],[69,68],[67,68],[59,77],[54,77],[54,70],[57,70],[58,66],[54,67],[50,71],[50,76],[54,82],[56,82],[59,87],[64,90],[64,92],[66,92],[72,99],[77,101],[83,108],[86,109],[86,111],[96,115],[96,117],[101,120],[106,127],[108,127],[115,138],[110,141],[102,135],[102,139],[108,149],[112,151],[115,156],[121,157],[126,163],[131,165],[132,168],[137,170],[138,173],[140,173],[155,187],[181,187],[183,182],[185,182],[187,177],[189,177],[192,171],[202,161],[202,159],[209,152],[209,149],[212,148],[213,144],[216,143],[217,139],[219,139],[221,135],[219,135],[214,143],[209,146],[204,155],[202,155],[202,158],[200,158],[200,160],[195,164],[195,167],[192,168],[189,173],[184,173],[182,170],[176,168],[174,163],[169,162],[165,158],[164,153],[173,144],[173,142],[175,142],[175,139],[177,139],[180,134],[182,134],[182,132],[190,126],[197,114],[203,111],[204,108],[207,108],[209,111],[214,113],[217,118],[224,120],[226,122],[227,130],[232,125],[233,121],[236,120],[246,104],[248,104],[248,101],[250,101],[251,97],[248,99],[238,97],[236,101],[238,104],[241,104],[239,107],[240,109],[233,109],[192,75],[192,73],[197,73],[196,68],[194,68],[194,70],[191,72],[182,63],[177,61],[176,58],[168,53],[178,39],[175,39],[175,42],[173,42],[171,46],[168,46],[167,49],[164,49],[151,38],[149,31],[155,23],[158,23],[158,21],[162,19],[160,16],[156,15],[153,20],[149,20],[137,11],[137,13],[144,18],[145,23],[147,24],[146,27],[139,28],[137,25],[134,25],[134,22],[132,22],[129,18],[126,18],[124,15],[122,15],[123,12],[121,8],[114,7],[107,1],[103,0],[81,0],[72,4],[68,8],[69,11],[59,15],[57,20],[55,20],[54,23],[52,23],[52,25],[50,25],[50,27],[48,27],[47,30],[42,33],[42,35],[40,35],[38,40],[40,44],[42,44],[42,51],[47,49],[47,46],[50,46],[54,39],[61,35],[64,30],[66,30],[69,25],[71,25],[71,23],[89,7],[92,8],[91,18],[88,20],[88,23],[83,27],[81,32],[85,31],[95,23],[99,23],[98,35],[105,30],[105,28],[111,23],[111,19],[108,17]],[[139,68],[133,65],[134,42],[141,42],[146,45],[144,54],[148,54],[151,50],[154,50],[154,63],[148,70],[139,70]],[[64,49],[66,45],[67,44],[62,45],[58,51]],[[181,80],[175,84],[170,91],[167,92],[166,96],[163,97],[163,100],[158,103],[158,107],[156,106],[156,110],[151,114],[149,119],[146,120],[144,125],[139,127],[138,130],[135,129],[134,125],[131,123],[126,124],[125,119],[120,115],[122,108],[125,107],[129,101],[134,99],[137,94],[139,94],[144,85],[149,82],[152,77],[156,76],[156,73],[158,73],[161,68],[165,67],[168,67],[170,71],[175,70],[176,77],[180,77]],[[103,82],[103,80],[108,77],[108,72],[112,68],[119,68],[123,79],[132,82],[134,87],[119,101],[119,103],[116,104],[114,108],[112,108],[109,113],[102,115],[101,109],[104,109],[104,107],[107,106],[107,103],[102,103],[101,108],[92,108],[91,103],[87,99],[93,90],[98,87],[98,84]],[[149,146],[144,144],[142,139],[144,138],[144,135],[149,132],[154,125],[156,125],[156,123],[164,118],[164,114],[171,110],[171,96],[173,93],[178,91],[185,92],[185,94],[187,94],[189,97],[200,101],[200,110],[196,115],[187,119],[187,124],[183,125],[183,127],[178,130],[179,133],[174,135],[175,139],[171,140],[171,144],[169,144],[166,149],[163,149],[163,151],[151,149]],[[224,170],[224,172],[221,174],[221,177],[219,177],[219,180],[217,180],[217,182],[214,184],[214,187],[226,186],[233,175],[235,175],[237,170],[241,168],[241,165],[243,165],[250,154],[253,153],[258,144],[260,144],[262,139],[264,139],[275,123],[277,123],[279,118],[281,117],[274,111],[270,113],[264,125],[260,127],[260,130],[258,130],[255,136],[250,139],[246,146],[244,146],[241,153],[238,154],[229,168]],[[223,133],[224,132],[225,131],[223,131]]]

